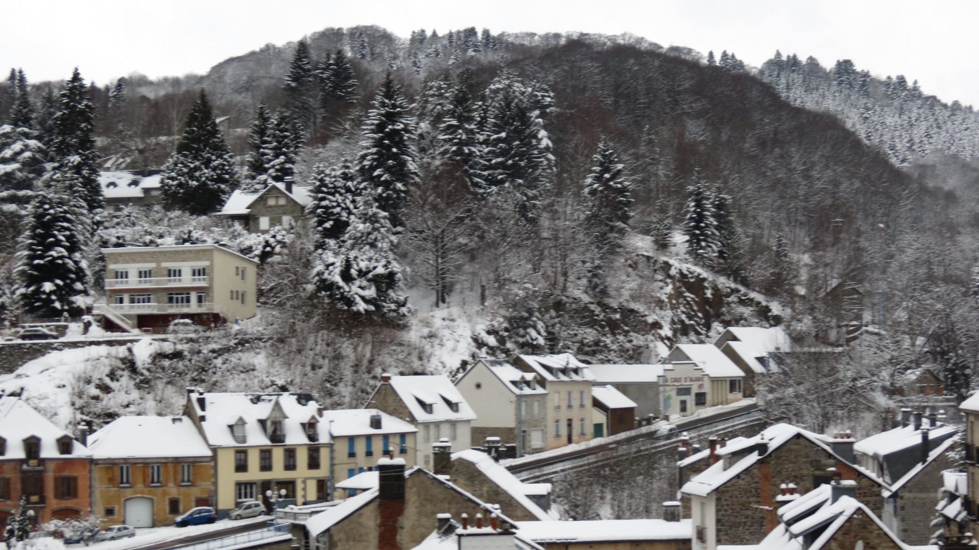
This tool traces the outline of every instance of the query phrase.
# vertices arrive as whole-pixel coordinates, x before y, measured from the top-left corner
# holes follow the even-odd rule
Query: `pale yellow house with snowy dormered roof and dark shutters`
[[[184,414],[214,451],[219,518],[250,500],[271,510],[270,490],[286,491],[280,508],[330,499],[331,439],[310,394],[188,390]]]

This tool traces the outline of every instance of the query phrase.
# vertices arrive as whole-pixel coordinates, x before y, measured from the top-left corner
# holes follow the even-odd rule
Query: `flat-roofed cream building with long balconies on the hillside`
[[[165,332],[176,319],[214,327],[256,314],[258,262],[217,245],[125,247],[106,254],[108,330]]]

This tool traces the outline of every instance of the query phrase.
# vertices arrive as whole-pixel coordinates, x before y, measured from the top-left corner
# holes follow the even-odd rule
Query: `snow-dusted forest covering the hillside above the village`
[[[634,36],[364,26],[206,75],[98,86],[14,70],[0,302],[13,319],[43,287],[18,271],[30,232],[80,215],[79,234],[59,234],[75,251],[62,302],[98,288],[99,247],[223,243],[262,261],[267,345],[292,363],[275,384],[313,380],[338,402],[392,357],[412,372],[512,351],[655,361],[746,324],[837,346],[855,318],[842,352],[785,369],[778,414],[882,417],[923,367],[964,396],[979,360],[975,116],[851,66],[776,58],[755,73]],[[909,113],[935,121],[930,139]],[[162,169],[170,207],[101,212],[94,169]],[[311,188],[308,224],[256,236],[207,215],[286,179]],[[41,219],[54,206],[64,215]],[[863,309],[841,311],[841,284]],[[468,319],[455,364],[421,321],[440,310]],[[170,364],[194,370],[215,347]],[[850,409],[818,410],[843,394]]]

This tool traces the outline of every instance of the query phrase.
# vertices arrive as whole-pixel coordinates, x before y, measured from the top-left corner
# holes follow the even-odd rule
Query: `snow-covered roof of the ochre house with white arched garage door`
[[[185,416],[120,416],[88,436],[92,458],[210,457],[208,442]]]

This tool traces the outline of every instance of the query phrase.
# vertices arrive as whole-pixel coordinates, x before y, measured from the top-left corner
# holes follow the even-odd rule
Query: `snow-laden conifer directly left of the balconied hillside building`
[[[89,294],[87,206],[73,194],[71,182],[59,174],[55,179],[28,207],[14,271],[23,311],[44,317],[82,311],[79,298]]]

